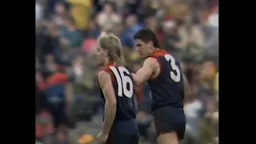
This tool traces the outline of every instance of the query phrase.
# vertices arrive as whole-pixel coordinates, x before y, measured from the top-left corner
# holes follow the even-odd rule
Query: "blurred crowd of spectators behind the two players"
[[[35,9],[37,138],[56,131],[54,126],[41,130],[54,121],[47,115],[52,105],[66,111],[69,118],[58,121],[68,121],[70,128],[101,114],[94,58],[98,35],[117,35],[127,66],[136,71],[142,60],[133,36],[148,27],[182,62],[192,88],[184,105],[183,143],[218,143],[218,0],[36,0]],[[142,142],[155,143],[149,87],[136,87],[136,97]],[[58,138],[65,139],[66,130],[58,130]]]

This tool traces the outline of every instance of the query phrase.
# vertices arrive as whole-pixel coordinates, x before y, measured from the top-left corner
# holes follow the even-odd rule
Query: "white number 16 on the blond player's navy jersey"
[[[110,70],[113,71],[114,76],[118,82],[118,96],[122,97],[124,94],[127,98],[132,98],[134,95],[134,83],[130,77],[125,75],[125,73],[130,74],[129,70],[122,66],[118,66],[118,69],[114,66],[110,66]],[[128,85],[130,90],[128,90]]]

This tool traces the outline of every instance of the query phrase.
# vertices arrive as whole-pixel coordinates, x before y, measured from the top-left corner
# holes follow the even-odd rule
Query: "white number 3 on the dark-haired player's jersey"
[[[179,70],[178,66],[175,64],[175,59],[170,54],[165,55],[166,61],[170,62],[170,67],[173,71],[170,71],[170,78],[174,80],[174,82],[181,81],[181,71]],[[176,71],[176,74],[174,73]]]

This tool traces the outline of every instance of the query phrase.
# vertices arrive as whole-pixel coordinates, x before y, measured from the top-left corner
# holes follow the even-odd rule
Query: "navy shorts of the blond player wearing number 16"
[[[138,125],[134,120],[114,122],[106,144],[138,144]]]

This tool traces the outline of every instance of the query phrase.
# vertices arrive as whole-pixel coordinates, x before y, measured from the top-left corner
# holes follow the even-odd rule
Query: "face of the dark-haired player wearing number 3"
[[[141,58],[146,58],[150,54],[150,42],[143,42],[141,39],[135,39],[136,51]]]

